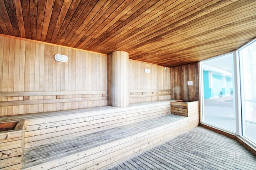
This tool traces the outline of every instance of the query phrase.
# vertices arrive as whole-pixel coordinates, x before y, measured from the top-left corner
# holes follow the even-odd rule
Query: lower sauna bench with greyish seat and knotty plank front
[[[169,114],[25,148],[22,169],[107,169],[186,132],[187,123],[187,117]]]

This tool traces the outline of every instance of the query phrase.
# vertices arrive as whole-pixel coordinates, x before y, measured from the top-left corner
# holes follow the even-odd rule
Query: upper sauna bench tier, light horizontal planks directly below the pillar
[[[37,118],[32,114],[26,117],[25,148],[168,115],[170,102],[166,100],[129,107],[74,109],[50,113],[51,116],[40,113]]]

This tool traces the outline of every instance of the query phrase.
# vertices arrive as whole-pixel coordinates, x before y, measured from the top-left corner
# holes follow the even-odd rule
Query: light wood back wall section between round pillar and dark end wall
[[[144,72],[145,68],[150,73]],[[171,98],[170,68],[129,60],[129,98],[130,103],[168,100]]]

